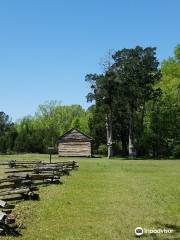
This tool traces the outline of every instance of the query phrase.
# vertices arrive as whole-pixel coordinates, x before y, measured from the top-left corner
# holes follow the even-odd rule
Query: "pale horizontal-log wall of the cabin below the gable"
[[[91,156],[91,142],[60,142],[59,156]]]

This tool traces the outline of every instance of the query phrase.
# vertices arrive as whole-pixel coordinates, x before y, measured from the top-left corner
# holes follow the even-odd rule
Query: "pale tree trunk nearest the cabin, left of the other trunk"
[[[107,130],[107,147],[108,147],[108,158],[112,157],[112,114],[110,112],[106,117],[106,130]]]

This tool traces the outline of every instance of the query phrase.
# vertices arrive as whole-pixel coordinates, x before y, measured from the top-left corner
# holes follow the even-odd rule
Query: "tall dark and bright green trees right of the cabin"
[[[86,76],[96,144],[107,143],[108,157],[179,157],[180,45],[161,66],[156,48],[140,46],[114,52],[104,65]]]

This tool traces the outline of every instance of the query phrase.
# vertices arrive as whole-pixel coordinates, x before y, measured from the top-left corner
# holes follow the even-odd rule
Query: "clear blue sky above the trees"
[[[13,120],[46,100],[87,107],[87,73],[109,49],[180,42],[179,0],[1,0],[0,111]]]

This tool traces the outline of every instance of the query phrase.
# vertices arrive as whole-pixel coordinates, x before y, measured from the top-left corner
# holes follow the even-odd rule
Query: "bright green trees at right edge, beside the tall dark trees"
[[[162,95],[148,104],[145,138],[153,156],[180,156],[180,61],[179,45],[175,55],[161,64],[162,79],[157,84]]]

